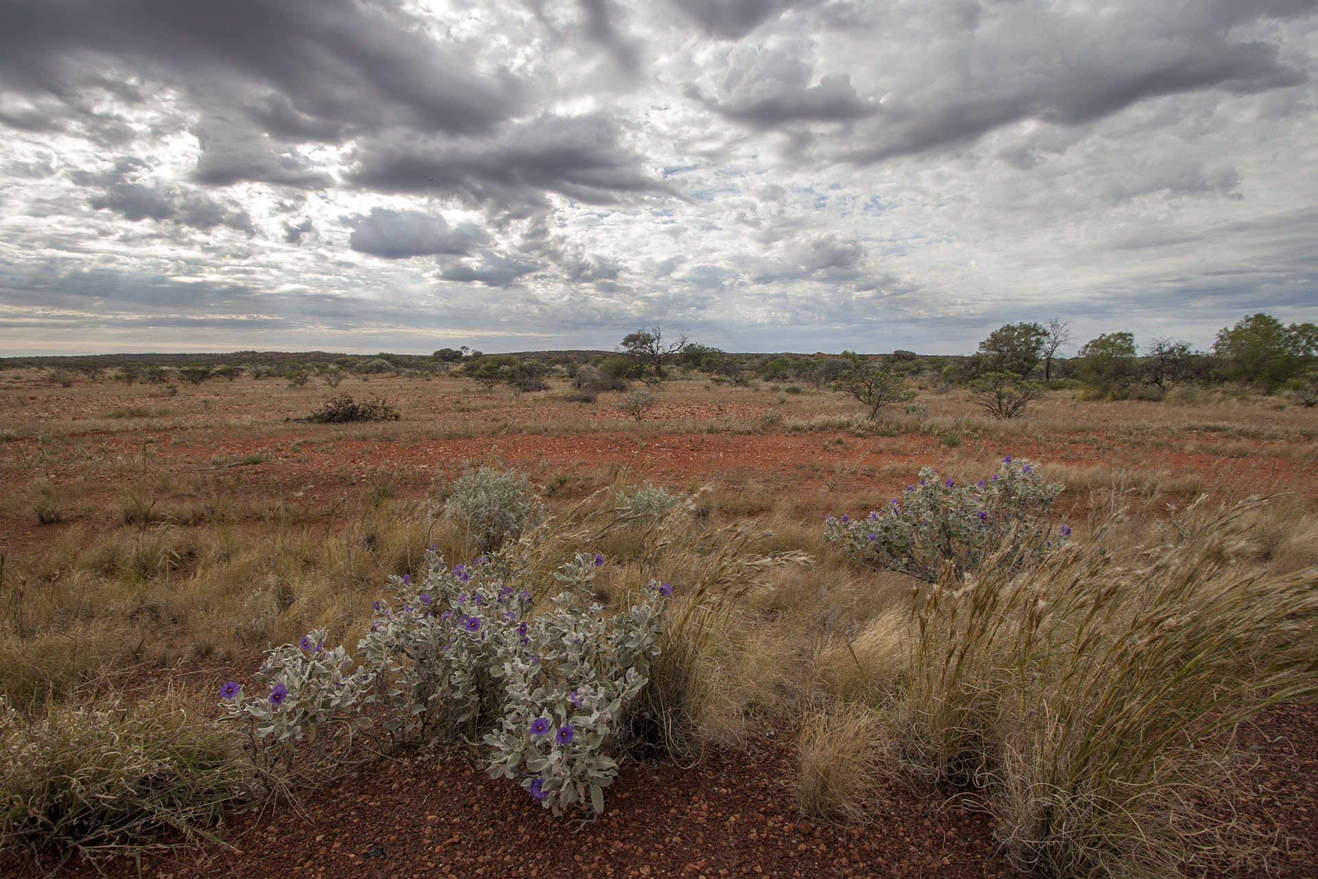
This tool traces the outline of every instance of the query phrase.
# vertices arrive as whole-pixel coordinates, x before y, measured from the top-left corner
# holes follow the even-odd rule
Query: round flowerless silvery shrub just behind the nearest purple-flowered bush
[[[544,507],[525,473],[465,464],[448,490],[444,509],[476,552],[493,552],[539,523]]]

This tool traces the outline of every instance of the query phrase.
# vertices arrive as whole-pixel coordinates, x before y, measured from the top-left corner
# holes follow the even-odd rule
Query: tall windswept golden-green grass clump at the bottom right
[[[981,789],[1023,868],[1255,863],[1249,829],[1218,810],[1234,731],[1318,693],[1318,572],[1244,563],[1260,503],[1197,513],[1168,543],[1110,552],[1099,534],[1033,572],[988,565],[915,596],[887,752]]]

